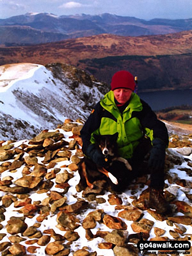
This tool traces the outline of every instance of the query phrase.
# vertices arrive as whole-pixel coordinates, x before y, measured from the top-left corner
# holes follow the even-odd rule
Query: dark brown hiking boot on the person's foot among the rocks
[[[163,189],[150,188],[149,207],[160,214],[170,211],[171,208],[163,195]]]

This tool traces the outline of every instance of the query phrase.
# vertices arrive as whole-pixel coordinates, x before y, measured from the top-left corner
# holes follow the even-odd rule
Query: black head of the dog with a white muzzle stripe
[[[94,135],[98,147],[105,156],[115,156],[117,154],[118,133],[113,135]]]

